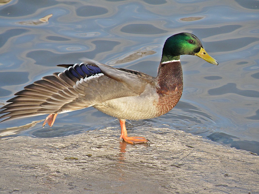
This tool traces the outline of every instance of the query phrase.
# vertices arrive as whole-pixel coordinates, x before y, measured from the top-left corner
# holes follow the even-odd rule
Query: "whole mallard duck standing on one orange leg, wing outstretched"
[[[92,106],[119,118],[120,139],[131,144],[148,142],[144,137],[127,136],[125,120],[158,117],[177,104],[183,92],[180,55],[196,55],[218,65],[195,35],[183,32],[164,43],[156,77],[98,62],[57,65],[67,69],[25,86],[1,108],[0,114],[5,114],[0,119],[49,114],[42,126],[52,126],[57,114]]]

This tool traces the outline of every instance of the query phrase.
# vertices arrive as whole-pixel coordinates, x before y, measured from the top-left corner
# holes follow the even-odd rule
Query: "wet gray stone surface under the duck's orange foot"
[[[1,139],[0,194],[259,193],[258,156],[247,151],[166,128],[147,129],[150,145],[118,133]]]

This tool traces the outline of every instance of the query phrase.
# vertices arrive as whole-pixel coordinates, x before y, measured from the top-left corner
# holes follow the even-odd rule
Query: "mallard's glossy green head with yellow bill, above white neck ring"
[[[195,35],[187,32],[172,35],[166,40],[161,62],[179,60],[180,55],[196,55],[209,63],[219,64],[207,54],[200,40]]]

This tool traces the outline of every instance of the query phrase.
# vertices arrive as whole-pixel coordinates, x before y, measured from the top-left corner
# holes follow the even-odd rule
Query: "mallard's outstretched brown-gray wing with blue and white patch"
[[[124,96],[140,95],[151,76],[100,63],[59,65],[53,73],[24,87],[0,111],[3,121],[43,114],[59,114]]]

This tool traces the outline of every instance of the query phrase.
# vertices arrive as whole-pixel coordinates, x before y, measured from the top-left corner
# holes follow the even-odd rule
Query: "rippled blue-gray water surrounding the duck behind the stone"
[[[0,103],[63,71],[57,64],[86,58],[156,76],[164,41],[190,32],[219,65],[182,56],[184,92],[177,106],[127,127],[166,125],[259,153],[258,9],[256,0],[7,1],[0,5]],[[58,115],[52,128],[33,122],[45,117],[1,123],[1,136],[57,137],[106,127],[120,135],[118,120],[93,108]]]

